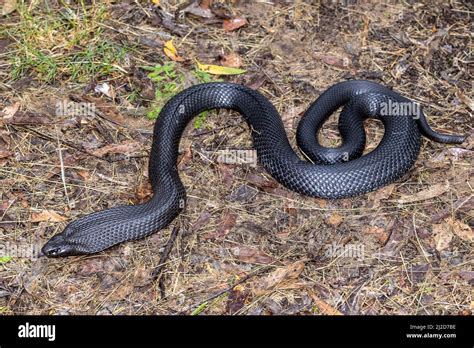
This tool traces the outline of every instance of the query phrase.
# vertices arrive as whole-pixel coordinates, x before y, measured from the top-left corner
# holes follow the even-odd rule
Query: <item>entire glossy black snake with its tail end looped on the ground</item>
[[[313,197],[360,195],[400,178],[418,156],[420,133],[442,143],[464,140],[434,132],[421,112],[384,114],[382,107],[393,102],[410,100],[369,81],[346,81],[329,88],[298,125],[297,143],[310,163],[293,151],[280,115],[260,93],[231,83],[188,88],[165,105],[155,123],[149,164],[153,198],[144,204],[115,207],[80,218],[51,238],[42,252],[50,257],[97,253],[170,224],[183,209],[186,197],[176,167],[179,141],[189,121],[205,110],[225,108],[242,114],[265,170],[290,190]],[[339,131],[343,143],[338,148],[324,148],[318,144],[318,130],[341,106]],[[385,133],[376,149],[361,156],[365,147],[363,120],[367,117],[381,120]]]

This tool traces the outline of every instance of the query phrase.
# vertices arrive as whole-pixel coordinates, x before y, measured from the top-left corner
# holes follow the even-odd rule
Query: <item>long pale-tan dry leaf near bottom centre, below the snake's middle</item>
[[[271,290],[291,287],[291,283],[295,283],[295,280],[300,276],[301,272],[303,272],[303,269],[303,261],[297,261],[284,267],[278,267],[259,282],[252,291],[255,295],[261,296]]]

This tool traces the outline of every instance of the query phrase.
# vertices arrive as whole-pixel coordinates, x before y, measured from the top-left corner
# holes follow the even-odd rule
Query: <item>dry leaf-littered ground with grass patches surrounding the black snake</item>
[[[472,3],[32,3],[0,17],[0,313],[472,314]],[[187,207],[168,228],[93,256],[36,257],[68,221],[149,199],[153,118],[217,79],[268,97],[293,145],[304,110],[347,79],[389,86],[435,130],[469,138],[424,139],[402,179],[323,200],[228,163],[235,149],[252,159],[250,132],[209,112],[181,141]],[[366,131],[370,150],[383,127]],[[337,116],[320,138],[338,144]]]

